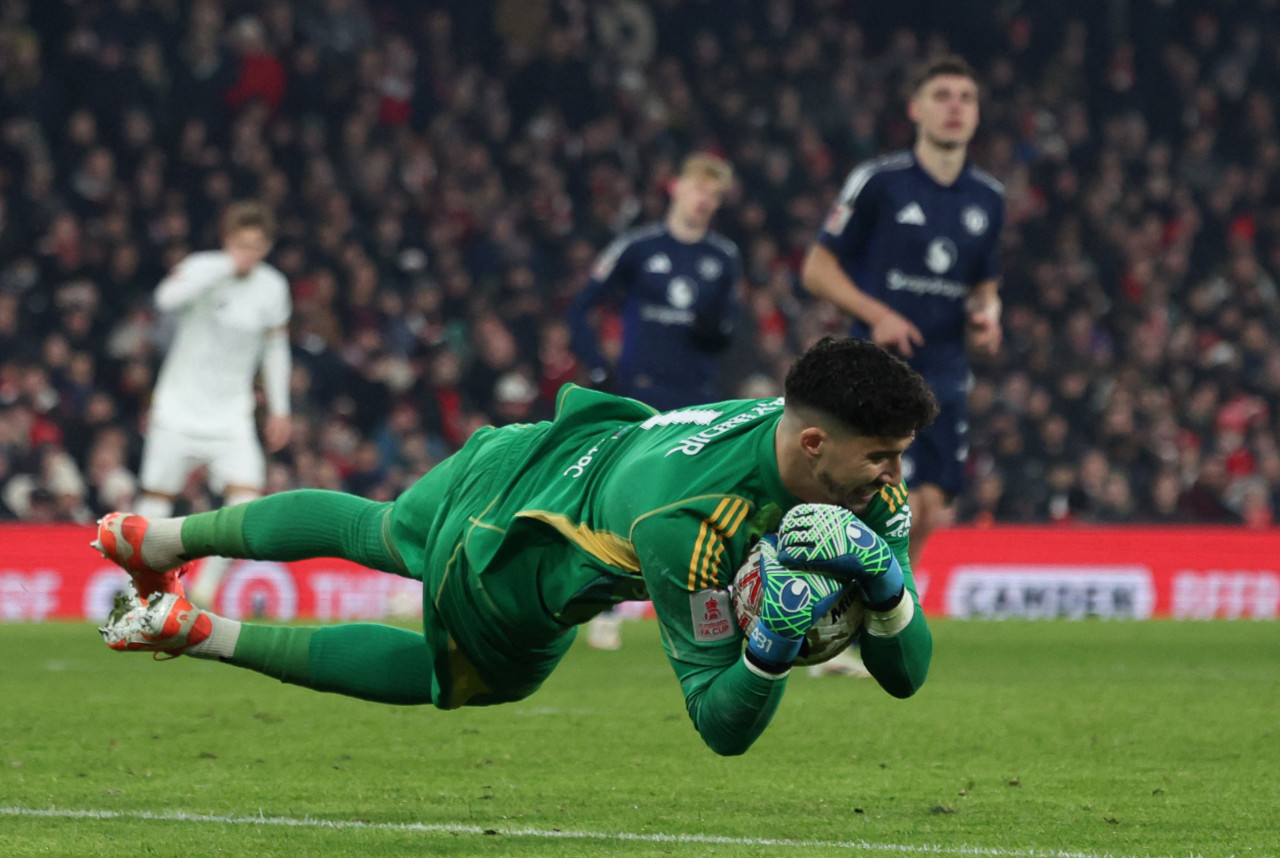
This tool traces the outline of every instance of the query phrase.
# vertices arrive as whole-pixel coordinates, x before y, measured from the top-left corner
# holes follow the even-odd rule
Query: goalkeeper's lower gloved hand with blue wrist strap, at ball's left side
[[[844,584],[822,574],[786,569],[777,537],[760,543],[760,615],[746,636],[748,658],[780,674],[800,653],[804,635],[840,598]]]

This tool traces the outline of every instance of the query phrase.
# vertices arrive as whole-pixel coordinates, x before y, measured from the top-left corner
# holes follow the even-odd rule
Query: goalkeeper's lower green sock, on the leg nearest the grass
[[[421,634],[371,622],[323,629],[243,624],[227,660],[317,692],[375,703],[431,702],[431,651]]]

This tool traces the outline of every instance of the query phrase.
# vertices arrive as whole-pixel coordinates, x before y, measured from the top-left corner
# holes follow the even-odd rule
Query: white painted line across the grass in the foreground
[[[209,822],[214,825],[266,825],[288,829],[358,829],[365,831],[411,831],[422,834],[480,834],[547,840],[626,840],[632,843],[712,844],[726,846],[771,846],[780,849],[861,849],[927,855],[980,855],[983,858],[1133,858],[1097,852],[1057,849],[991,849],[984,846],[945,846],[941,844],[893,844],[867,840],[787,840],[774,838],[726,838],[713,834],[631,834],[627,831],[573,831],[566,829],[497,829],[479,825],[433,822],[362,822],[360,820],[317,820],[288,816],[214,816],[178,811],[76,811],[63,808],[0,807],[0,816],[58,820],[143,820],[151,822]],[[1143,858],[1155,858],[1144,855]]]

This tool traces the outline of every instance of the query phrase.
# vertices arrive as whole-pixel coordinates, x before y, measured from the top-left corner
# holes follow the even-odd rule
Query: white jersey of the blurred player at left
[[[253,375],[268,333],[288,324],[291,312],[288,282],[276,269],[262,263],[236,277],[220,257],[193,254],[156,289],[156,306],[180,315],[151,421],[195,435],[253,433]]]

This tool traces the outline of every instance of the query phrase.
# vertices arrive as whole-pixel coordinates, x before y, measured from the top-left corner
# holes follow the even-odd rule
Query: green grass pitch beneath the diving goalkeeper
[[[0,625],[0,854],[1280,854],[1276,624],[933,627],[915,698],[797,670],[719,758],[653,622],[452,713]]]

